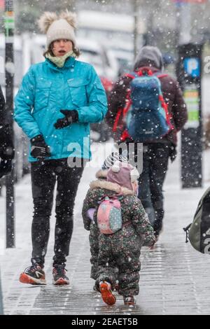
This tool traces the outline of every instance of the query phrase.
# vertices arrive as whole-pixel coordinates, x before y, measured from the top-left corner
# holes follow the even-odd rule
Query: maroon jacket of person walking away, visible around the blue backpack
[[[142,60],[139,64],[143,65],[141,67],[139,66],[141,69],[143,67],[148,67],[154,73],[160,71],[160,69],[157,69],[154,66],[144,66],[144,64],[148,64],[146,60]],[[132,78],[122,76],[113,86],[113,90],[109,96],[109,111],[106,115],[106,122],[110,127],[113,127],[118,110],[125,107],[125,99],[127,91],[130,88],[131,81]],[[179,87],[179,83],[172,78],[172,76],[163,76],[160,78],[160,83],[163,97],[168,105],[169,114],[172,116],[172,125],[174,125],[174,130],[169,132],[169,134],[162,139],[159,139],[157,142],[171,141],[174,145],[176,145],[176,132],[179,132],[183,128],[188,119],[186,104],[184,102],[183,93]],[[113,137],[115,138],[115,136]]]

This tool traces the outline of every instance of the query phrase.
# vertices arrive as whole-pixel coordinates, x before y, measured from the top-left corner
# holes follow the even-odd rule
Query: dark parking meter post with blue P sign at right
[[[177,76],[188,109],[181,132],[182,188],[202,187],[202,45],[179,45]]]

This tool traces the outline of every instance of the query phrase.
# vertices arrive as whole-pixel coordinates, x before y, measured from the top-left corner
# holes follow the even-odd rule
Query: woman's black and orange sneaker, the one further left
[[[38,264],[27,267],[25,271],[20,274],[19,281],[29,284],[46,284],[43,267]]]

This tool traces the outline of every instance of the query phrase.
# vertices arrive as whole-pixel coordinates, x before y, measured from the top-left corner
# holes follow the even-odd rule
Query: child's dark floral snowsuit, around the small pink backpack
[[[123,200],[120,200],[123,223],[130,223],[123,225],[122,230],[113,235],[103,235],[97,229],[96,224],[98,200],[103,195],[113,195],[119,192],[124,196]],[[90,208],[96,209],[95,224],[90,224],[90,219],[87,218],[87,210]],[[90,230],[92,279],[96,279],[97,285],[99,285],[99,281],[106,279],[112,286],[118,279],[120,295],[138,295],[141,246],[151,246],[155,242],[153,228],[141,201],[131,190],[120,188],[116,183],[98,179],[90,184],[90,190],[85,197],[83,222],[86,230]],[[109,263],[108,267],[107,263]]]

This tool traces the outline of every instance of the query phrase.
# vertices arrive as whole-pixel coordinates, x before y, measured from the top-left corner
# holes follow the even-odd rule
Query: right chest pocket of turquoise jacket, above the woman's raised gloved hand
[[[88,80],[73,79],[68,80],[67,82],[71,93],[72,103],[78,107],[87,105],[86,86],[88,84]]]

